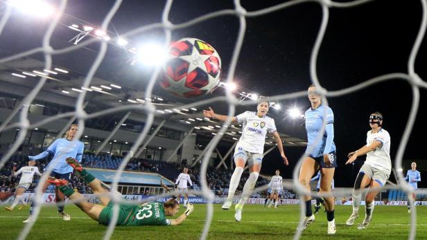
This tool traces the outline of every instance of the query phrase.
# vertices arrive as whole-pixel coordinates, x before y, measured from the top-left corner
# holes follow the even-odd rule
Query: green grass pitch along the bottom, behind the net
[[[182,205],[181,205],[182,206]],[[365,207],[360,207],[363,221]],[[184,209],[180,210],[180,214]],[[62,221],[55,207],[44,207],[28,239],[102,239],[106,227],[89,219],[74,205],[67,205],[65,212],[71,221]],[[206,205],[195,205],[194,212],[182,225],[117,227],[112,239],[199,239],[202,232]],[[326,214],[316,214],[316,221],[302,234],[302,239],[408,239],[410,214],[406,206],[376,206],[369,228],[357,230],[357,225],[347,227],[345,221],[351,206],[336,206],[337,232],[326,234]],[[417,207],[417,239],[427,239],[427,207]],[[28,216],[24,210],[8,212],[0,210],[0,238],[16,239]],[[282,205],[266,208],[261,205],[245,205],[241,222],[234,220],[234,210],[221,210],[214,205],[214,219],[208,239],[292,239],[297,228],[299,206]]]

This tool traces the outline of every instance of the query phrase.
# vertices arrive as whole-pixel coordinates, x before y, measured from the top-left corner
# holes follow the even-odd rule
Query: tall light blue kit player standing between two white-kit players
[[[308,99],[311,102],[311,108],[305,113],[306,131],[307,131],[307,149],[306,157],[299,169],[299,183],[304,185],[308,192],[311,192],[310,179],[320,169],[322,178],[320,179],[320,193],[330,193],[331,183],[336,163],[336,147],[333,143],[333,111],[330,107],[322,104],[321,96],[315,93],[315,85],[308,87]],[[326,113],[326,116],[324,116]],[[326,118],[324,118],[326,117]],[[326,122],[325,132],[320,140],[315,142],[319,135],[323,123]],[[313,148],[310,152],[308,149]],[[306,218],[302,230],[315,221],[315,216],[311,210],[311,196],[300,196],[301,201],[306,203]],[[326,216],[328,219],[328,234],[335,234],[335,216],[333,212],[333,196],[324,197]]]

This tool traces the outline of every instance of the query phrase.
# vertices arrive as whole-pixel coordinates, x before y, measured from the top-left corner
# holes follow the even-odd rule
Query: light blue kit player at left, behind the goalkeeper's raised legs
[[[52,169],[51,177],[57,178],[57,179],[65,179],[67,181],[70,181],[71,174],[73,173],[73,167],[68,165],[66,158],[76,158],[78,162],[80,163],[82,160],[83,150],[85,148],[85,145],[83,142],[80,142],[79,140],[75,140],[74,135],[76,134],[78,129],[77,124],[71,124],[69,129],[67,130],[66,137],[65,138],[59,138],[55,140],[49,147],[46,149],[46,151],[42,152],[41,154],[37,156],[28,156],[30,160],[40,160],[43,158],[46,158],[46,156],[52,155],[53,158],[49,162],[49,164],[46,166],[44,172],[46,172],[47,169]],[[48,181],[44,183],[42,192],[46,190],[46,188],[50,185]],[[69,221],[71,218],[69,214],[64,212],[64,205],[62,205],[62,201],[64,201],[65,196],[58,190],[58,187],[55,189],[55,196],[56,196],[56,203],[58,205],[58,214],[62,216],[62,219],[64,221]],[[30,207],[30,217],[24,221],[24,223],[27,223],[29,221],[33,221],[34,219],[31,217],[31,214],[33,214],[33,203],[31,203]]]

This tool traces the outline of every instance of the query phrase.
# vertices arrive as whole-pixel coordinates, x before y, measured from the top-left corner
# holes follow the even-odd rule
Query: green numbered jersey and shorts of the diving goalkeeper
[[[108,225],[112,219],[113,203],[110,201],[99,215],[99,223]],[[138,225],[170,225],[171,221],[166,219],[163,204],[150,202],[143,205],[119,205],[119,219],[116,225],[138,226]]]

